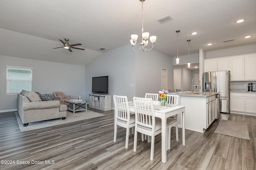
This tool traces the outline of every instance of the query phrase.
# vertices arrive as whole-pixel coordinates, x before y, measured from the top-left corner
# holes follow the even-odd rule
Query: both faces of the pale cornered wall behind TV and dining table
[[[135,52],[131,45],[102,53],[86,65],[86,99],[92,93],[92,77],[104,75],[109,76],[108,93],[126,95],[129,101],[134,96],[158,93],[161,88],[161,68],[168,70],[168,88],[173,88],[172,57],[168,55],[154,49]]]

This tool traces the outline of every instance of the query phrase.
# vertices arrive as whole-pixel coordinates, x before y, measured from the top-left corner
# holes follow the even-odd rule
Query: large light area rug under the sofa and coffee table
[[[24,131],[28,131],[28,130],[35,130],[35,129],[39,129],[39,128],[45,128],[45,127],[51,127],[51,126],[55,126],[55,125],[62,125],[65,123],[70,123],[70,122],[76,122],[76,121],[81,121],[81,120],[85,120],[85,119],[91,119],[91,118],[95,118],[95,117],[101,117],[101,116],[105,116],[103,114],[100,113],[96,113],[93,111],[88,111],[87,112],[76,112],[75,114],[73,114],[73,112],[67,111],[67,117],[65,120],[60,119],[51,119],[51,120],[47,120],[47,121],[39,121],[39,122],[33,122],[33,123],[29,123],[27,127],[24,127],[22,124],[22,121],[20,120],[20,116],[19,114],[16,112],[15,113],[19,127],[20,127],[20,131],[24,132]]]

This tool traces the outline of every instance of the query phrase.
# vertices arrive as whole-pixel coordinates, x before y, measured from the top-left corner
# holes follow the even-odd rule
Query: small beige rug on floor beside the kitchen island
[[[214,133],[250,140],[247,123],[221,120]]]

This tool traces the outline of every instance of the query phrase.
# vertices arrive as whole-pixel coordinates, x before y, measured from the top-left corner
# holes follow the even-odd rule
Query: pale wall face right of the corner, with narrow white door
[[[161,69],[167,69],[167,89],[173,89],[172,57],[154,49],[136,52],[136,97],[158,93],[161,89]]]

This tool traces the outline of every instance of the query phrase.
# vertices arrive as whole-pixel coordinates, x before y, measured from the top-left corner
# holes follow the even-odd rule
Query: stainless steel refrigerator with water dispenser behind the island
[[[203,89],[206,92],[220,92],[220,112],[230,112],[230,71],[203,73]]]

